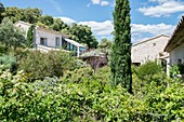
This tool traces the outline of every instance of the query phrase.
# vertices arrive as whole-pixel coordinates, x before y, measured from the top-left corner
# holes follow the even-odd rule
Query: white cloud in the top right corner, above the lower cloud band
[[[149,0],[157,2],[157,5],[140,8],[139,11],[146,16],[160,17],[184,12],[184,2],[179,0]]]

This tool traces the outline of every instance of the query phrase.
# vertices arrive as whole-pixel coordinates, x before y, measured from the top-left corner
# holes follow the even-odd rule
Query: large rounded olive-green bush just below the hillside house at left
[[[41,53],[32,51],[25,56],[19,63],[19,70],[24,70],[29,76],[29,80],[43,80],[44,77],[61,77],[65,70],[71,68],[74,57],[66,52],[50,51]]]

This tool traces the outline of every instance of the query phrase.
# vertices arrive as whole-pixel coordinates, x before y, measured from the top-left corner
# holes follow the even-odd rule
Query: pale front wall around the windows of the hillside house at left
[[[56,37],[60,38],[60,45],[62,46],[62,36],[36,29],[36,44],[40,44],[40,38],[47,38],[48,46],[54,48]]]

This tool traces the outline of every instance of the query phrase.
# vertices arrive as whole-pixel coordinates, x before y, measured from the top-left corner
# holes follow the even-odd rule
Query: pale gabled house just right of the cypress
[[[167,60],[168,53],[163,50],[169,36],[160,35],[132,44],[132,64],[142,65],[147,60]]]

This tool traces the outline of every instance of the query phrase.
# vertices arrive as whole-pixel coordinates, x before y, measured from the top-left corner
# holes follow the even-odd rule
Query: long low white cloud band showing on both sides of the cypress
[[[105,22],[76,22],[69,17],[57,17],[63,19],[67,24],[77,23],[80,25],[88,25],[91,27],[92,32],[97,39],[102,39],[103,37],[109,37],[113,39],[111,32],[114,31],[113,21],[105,21]],[[137,42],[141,40],[145,40],[150,37],[155,37],[157,35],[171,35],[173,29],[175,28],[174,25],[167,25],[167,24],[131,24],[131,33],[132,33],[132,42]]]

